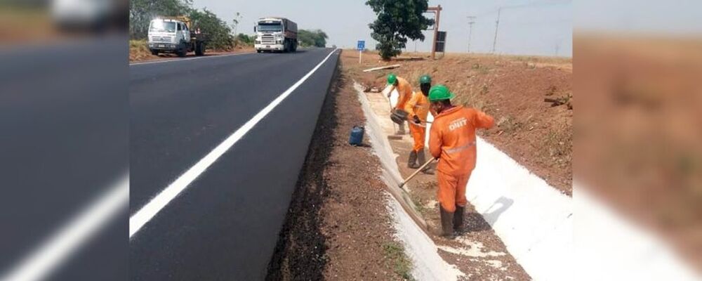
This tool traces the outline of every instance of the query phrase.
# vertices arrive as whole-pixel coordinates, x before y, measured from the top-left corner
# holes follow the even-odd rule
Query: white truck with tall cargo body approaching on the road
[[[253,26],[256,52],[294,52],[298,49],[298,24],[286,18],[260,18]]]

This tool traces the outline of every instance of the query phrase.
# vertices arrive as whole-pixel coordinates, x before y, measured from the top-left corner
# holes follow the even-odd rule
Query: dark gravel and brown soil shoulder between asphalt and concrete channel
[[[337,70],[300,172],[267,280],[403,280],[411,265],[392,237],[380,162],[348,145],[365,123],[352,81]]]

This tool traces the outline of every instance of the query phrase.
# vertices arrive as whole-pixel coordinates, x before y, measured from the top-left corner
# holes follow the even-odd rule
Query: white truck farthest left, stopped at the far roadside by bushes
[[[155,18],[149,25],[149,50],[152,55],[176,53],[184,57],[187,52],[205,54],[207,34],[201,32],[186,16]]]

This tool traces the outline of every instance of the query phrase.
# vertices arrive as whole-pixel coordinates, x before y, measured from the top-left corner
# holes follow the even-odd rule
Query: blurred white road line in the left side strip
[[[98,230],[119,214],[119,211],[126,210],[128,206],[129,176],[126,175],[20,261],[7,275],[0,277],[0,280],[44,280],[55,268],[69,259],[81,244],[98,233]]]

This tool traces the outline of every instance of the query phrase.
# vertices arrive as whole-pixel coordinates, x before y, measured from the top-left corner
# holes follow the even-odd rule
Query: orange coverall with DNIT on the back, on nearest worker
[[[489,129],[495,121],[484,112],[462,106],[444,110],[434,119],[429,151],[439,158],[437,198],[444,210],[465,206],[465,185],[475,168],[475,129]]]

